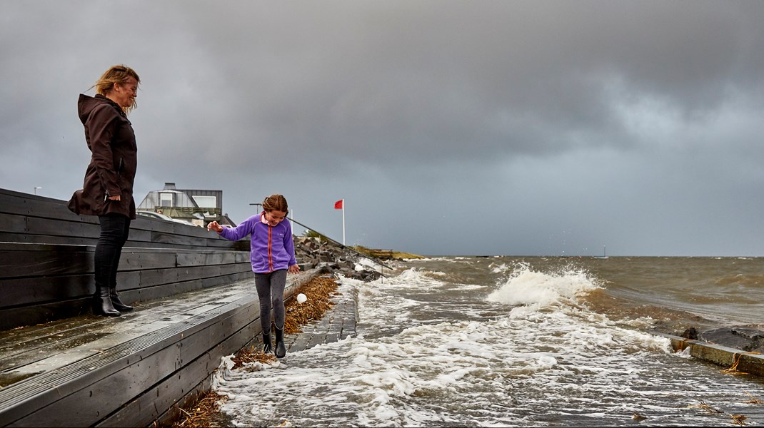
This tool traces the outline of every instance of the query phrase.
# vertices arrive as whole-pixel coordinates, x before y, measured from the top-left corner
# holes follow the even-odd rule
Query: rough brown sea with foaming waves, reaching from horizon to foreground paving
[[[762,259],[407,260],[342,278],[358,336],[215,388],[236,426],[762,424],[762,378],[652,334],[762,323],[762,282]]]

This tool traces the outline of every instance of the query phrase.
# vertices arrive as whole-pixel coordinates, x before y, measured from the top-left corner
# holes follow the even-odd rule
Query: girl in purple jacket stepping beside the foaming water
[[[263,201],[263,212],[249,217],[234,228],[222,227],[217,221],[207,225],[208,230],[215,230],[227,240],[237,241],[251,236],[252,272],[257,298],[260,299],[260,323],[263,327],[263,352],[271,351],[270,344],[270,305],[273,304],[276,330],[277,358],[286,355],[284,346],[284,286],[286,272],[299,273],[299,266],[294,258],[292,225],[286,220],[289,208],[282,195],[270,195]],[[280,326],[280,327],[279,327]]]

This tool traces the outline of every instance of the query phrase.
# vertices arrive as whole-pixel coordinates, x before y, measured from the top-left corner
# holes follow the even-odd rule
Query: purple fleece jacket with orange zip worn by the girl
[[[261,214],[253,215],[237,227],[223,227],[220,234],[227,240],[238,241],[251,235],[252,272],[269,273],[280,269],[289,269],[296,265],[294,258],[294,242],[292,240],[292,224],[284,218],[281,223],[270,227],[261,221]]]

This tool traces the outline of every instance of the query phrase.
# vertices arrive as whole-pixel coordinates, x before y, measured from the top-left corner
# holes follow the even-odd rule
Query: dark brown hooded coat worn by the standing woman
[[[133,182],[138,146],[128,116],[103,95],[79,95],[79,120],[92,153],[82,190],[74,192],[69,209],[76,214],[122,214],[135,218]],[[109,196],[119,195],[120,201]]]

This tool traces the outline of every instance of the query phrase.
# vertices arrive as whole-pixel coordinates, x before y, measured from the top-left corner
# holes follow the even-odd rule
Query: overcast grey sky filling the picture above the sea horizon
[[[764,2],[0,2],[0,188],[68,200],[141,76],[135,198],[286,196],[426,255],[764,256]],[[298,233],[302,228],[296,228]]]

